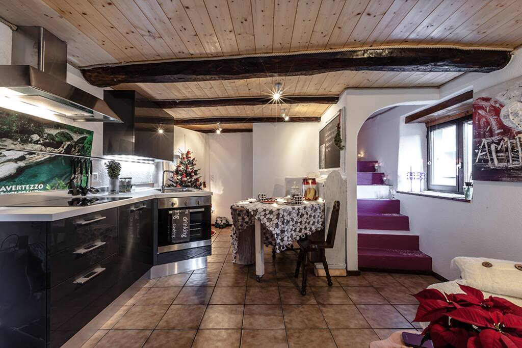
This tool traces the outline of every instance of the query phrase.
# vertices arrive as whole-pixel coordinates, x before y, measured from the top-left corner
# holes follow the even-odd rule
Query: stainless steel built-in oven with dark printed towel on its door
[[[210,205],[210,196],[158,199],[158,256],[210,246]]]

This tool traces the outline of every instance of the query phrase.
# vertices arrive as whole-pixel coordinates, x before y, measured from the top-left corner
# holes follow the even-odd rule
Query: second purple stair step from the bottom
[[[419,236],[359,233],[357,245],[360,248],[419,250]]]

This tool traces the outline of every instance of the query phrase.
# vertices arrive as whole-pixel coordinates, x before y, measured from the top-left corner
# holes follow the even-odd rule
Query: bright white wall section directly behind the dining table
[[[253,125],[253,191],[284,196],[284,177],[318,172],[318,123],[256,123]]]

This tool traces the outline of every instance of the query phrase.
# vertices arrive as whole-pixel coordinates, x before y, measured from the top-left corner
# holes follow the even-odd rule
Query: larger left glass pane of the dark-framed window
[[[432,130],[431,184],[456,186],[457,126]]]

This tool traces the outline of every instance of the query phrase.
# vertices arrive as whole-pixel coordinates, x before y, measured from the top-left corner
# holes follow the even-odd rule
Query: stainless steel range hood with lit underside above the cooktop
[[[0,65],[0,107],[81,122],[122,122],[103,100],[66,82],[67,44],[42,27],[13,32],[13,65]]]

